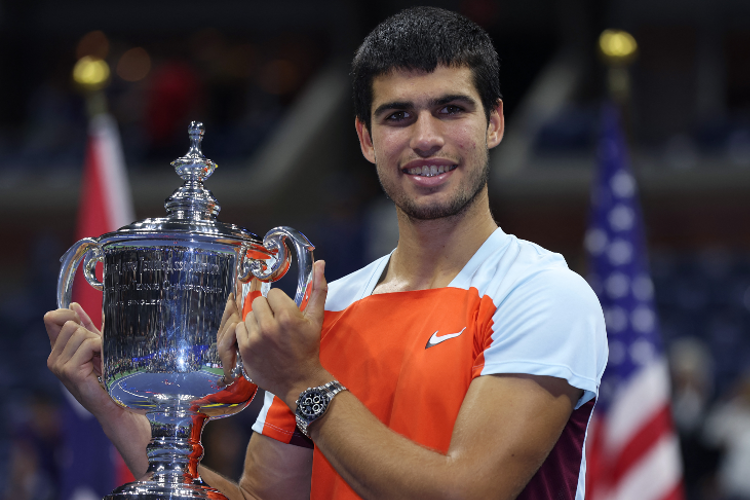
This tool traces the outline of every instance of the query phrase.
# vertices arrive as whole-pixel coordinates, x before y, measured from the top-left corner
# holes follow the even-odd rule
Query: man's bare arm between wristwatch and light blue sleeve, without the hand
[[[478,377],[445,455],[391,431],[350,393],[334,398],[310,436],[366,499],[511,499],[544,462],[580,394],[554,377]]]

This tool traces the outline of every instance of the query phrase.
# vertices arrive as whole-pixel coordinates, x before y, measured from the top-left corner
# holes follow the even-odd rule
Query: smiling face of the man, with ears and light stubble
[[[356,122],[386,194],[417,220],[457,215],[484,192],[503,125],[502,102],[488,123],[471,70],[446,66],[375,78],[370,132]]]

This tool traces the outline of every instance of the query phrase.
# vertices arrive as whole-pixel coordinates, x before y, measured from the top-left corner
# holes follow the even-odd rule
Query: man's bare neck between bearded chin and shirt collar
[[[447,286],[497,229],[486,187],[466,210],[451,217],[414,220],[397,212],[398,246],[374,293]]]

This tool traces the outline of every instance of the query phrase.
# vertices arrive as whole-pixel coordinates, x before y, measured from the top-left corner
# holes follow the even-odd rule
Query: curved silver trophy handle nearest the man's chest
[[[294,248],[297,255],[299,273],[297,275],[297,292],[294,302],[301,311],[307,307],[307,301],[312,292],[313,250],[315,247],[307,237],[296,229],[279,226],[271,229],[263,238],[263,246],[276,256],[271,265],[260,260],[248,259],[243,265],[241,280],[247,280],[252,274],[264,282],[278,281],[289,271],[292,256],[289,246]]]

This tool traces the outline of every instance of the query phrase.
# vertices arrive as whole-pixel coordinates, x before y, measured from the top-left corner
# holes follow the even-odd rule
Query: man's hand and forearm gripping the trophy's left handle
[[[148,467],[146,445],[151,439],[151,426],[145,416],[117,405],[99,383],[102,335],[80,305],[73,303],[70,307],[44,315],[51,346],[47,367],[96,417],[133,475],[140,477]]]

